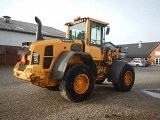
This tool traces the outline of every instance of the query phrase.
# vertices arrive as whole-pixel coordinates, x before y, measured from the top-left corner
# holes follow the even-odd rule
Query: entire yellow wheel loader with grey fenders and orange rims
[[[66,38],[44,40],[41,21],[36,41],[23,43],[21,61],[13,70],[14,76],[33,85],[60,90],[67,100],[86,100],[94,84],[112,82],[118,91],[129,91],[135,72],[127,62],[118,59],[120,47],[105,42],[109,23],[90,17],[77,17],[65,24]]]

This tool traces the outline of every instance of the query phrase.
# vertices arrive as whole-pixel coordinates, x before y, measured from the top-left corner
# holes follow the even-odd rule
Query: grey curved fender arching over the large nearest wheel
[[[86,52],[78,52],[78,51],[70,51],[70,52],[62,52],[57,61],[55,62],[50,78],[51,79],[62,79],[65,73],[65,70],[67,68],[67,62],[68,60],[75,54],[79,54],[81,57],[81,60],[89,66],[93,70],[93,74],[96,76],[97,75],[97,67],[95,62],[93,61],[92,57],[90,56],[89,53]]]

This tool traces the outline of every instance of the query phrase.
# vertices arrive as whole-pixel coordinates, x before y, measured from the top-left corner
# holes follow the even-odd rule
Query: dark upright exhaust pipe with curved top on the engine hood
[[[38,25],[37,26],[37,32],[36,32],[36,41],[40,41],[40,40],[43,40],[43,35],[42,35],[42,32],[41,32],[42,23],[41,23],[40,19],[36,16],[35,16],[35,21]]]

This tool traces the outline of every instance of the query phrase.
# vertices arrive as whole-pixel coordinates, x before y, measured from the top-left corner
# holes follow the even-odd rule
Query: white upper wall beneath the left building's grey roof
[[[51,37],[44,36],[45,39]],[[22,42],[34,42],[36,35],[0,30],[0,45],[22,46]]]

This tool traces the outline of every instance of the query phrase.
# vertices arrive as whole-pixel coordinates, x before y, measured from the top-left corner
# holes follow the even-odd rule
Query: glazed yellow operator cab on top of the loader
[[[109,23],[89,17],[77,17],[74,22],[65,25],[68,26],[67,39],[80,39],[85,42],[85,45],[97,46],[101,50],[105,42],[105,35],[108,35],[110,30]]]

